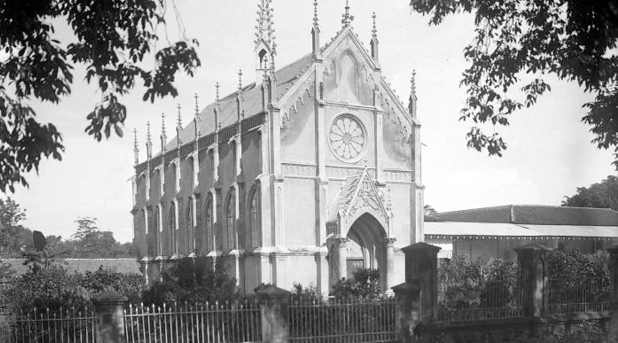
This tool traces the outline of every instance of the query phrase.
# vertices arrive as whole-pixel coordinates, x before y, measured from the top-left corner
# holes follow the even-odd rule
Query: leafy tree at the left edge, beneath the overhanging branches
[[[32,232],[20,223],[25,210],[12,198],[0,199],[0,255],[15,257],[22,246],[32,246]]]

